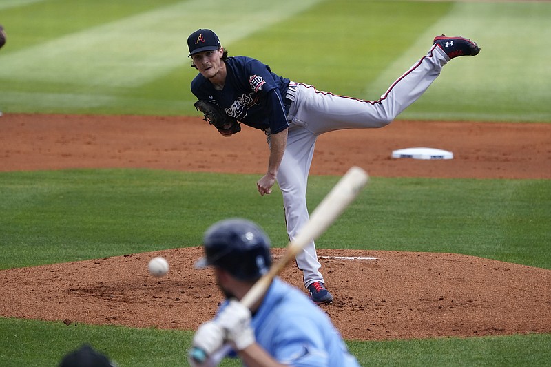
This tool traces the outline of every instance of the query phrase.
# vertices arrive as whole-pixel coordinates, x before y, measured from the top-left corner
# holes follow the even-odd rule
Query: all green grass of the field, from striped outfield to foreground
[[[481,53],[446,66],[399,118],[550,123],[549,19],[551,3],[524,1],[0,0],[8,34],[0,110],[196,116],[185,41],[198,28],[283,76],[376,99],[446,33],[471,37]],[[277,190],[227,195],[254,180],[147,169],[0,173],[0,269],[196,246],[209,224],[236,215],[283,246]],[[337,180],[311,178],[311,209]],[[551,269],[550,222],[549,180],[373,177],[318,247],[464,253]],[[121,367],[185,366],[193,331],[0,317],[0,335],[0,366],[54,366],[83,342]],[[549,334],[349,347],[362,366],[551,364]]]

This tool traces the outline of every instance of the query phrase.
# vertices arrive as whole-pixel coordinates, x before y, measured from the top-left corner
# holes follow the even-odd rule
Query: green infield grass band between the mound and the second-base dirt
[[[256,175],[145,169],[0,174],[0,269],[200,244],[212,222],[258,222],[287,244],[281,193],[260,197]],[[309,181],[315,208],[337,182]],[[227,195],[228,187],[250,187]],[[320,249],[464,253],[551,269],[549,180],[372,178]],[[438,218],[434,220],[434,218]]]

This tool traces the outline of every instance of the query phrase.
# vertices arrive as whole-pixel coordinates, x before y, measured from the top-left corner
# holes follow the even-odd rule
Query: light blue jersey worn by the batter
[[[279,278],[273,280],[251,326],[256,342],[282,364],[360,366],[320,306]]]

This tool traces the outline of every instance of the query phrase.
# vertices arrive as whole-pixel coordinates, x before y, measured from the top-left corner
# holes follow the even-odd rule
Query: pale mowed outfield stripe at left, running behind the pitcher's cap
[[[231,44],[317,2],[183,1],[3,54],[0,78],[136,87],[186,63],[187,35],[198,28],[215,28]]]

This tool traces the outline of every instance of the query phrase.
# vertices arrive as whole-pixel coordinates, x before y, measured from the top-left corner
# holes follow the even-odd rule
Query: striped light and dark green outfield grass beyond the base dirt
[[[186,39],[212,28],[231,55],[370,100],[434,36],[469,36],[479,56],[450,63],[399,118],[551,120],[549,2],[1,0],[0,12],[3,112],[196,115]]]

